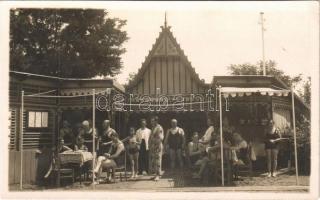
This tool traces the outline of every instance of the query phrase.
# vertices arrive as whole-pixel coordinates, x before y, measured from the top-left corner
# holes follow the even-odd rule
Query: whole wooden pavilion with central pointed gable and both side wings
[[[187,139],[194,131],[203,134],[207,128],[207,117],[213,116],[218,127],[219,110],[216,99],[214,109],[209,109],[207,95],[218,96],[217,89],[243,88],[243,92],[224,96],[224,121],[236,127],[243,137],[254,143],[257,156],[264,157],[263,129],[268,120],[273,119],[276,126],[292,126],[291,100],[289,96],[277,95],[277,90],[288,87],[272,76],[214,76],[211,83],[199,78],[187,56],[173,36],[170,26],[165,22],[161,32],[152,46],[136,76],[124,88],[115,80],[107,79],[67,79],[52,76],[10,72],[9,108],[10,108],[10,143],[9,143],[9,183],[18,183],[20,179],[20,125],[21,91],[26,95],[45,93],[52,96],[81,96],[79,98],[39,98],[29,96],[24,100],[23,113],[23,182],[35,183],[40,180],[49,164],[49,160],[41,159],[36,152],[39,149],[56,145],[59,125],[62,120],[72,124],[92,117],[92,96],[97,92],[125,98],[126,111],[96,112],[96,127],[101,126],[104,119],[111,119],[112,126],[123,138],[128,134],[128,127],[138,128],[141,118],[149,119],[158,115],[160,124],[165,130],[170,120],[178,120],[178,126],[186,132]],[[268,92],[250,92],[250,88],[267,88]],[[250,93],[250,94],[249,94]],[[159,96],[168,97],[168,105],[176,102],[175,97],[184,99],[189,105],[187,109],[177,110],[168,106],[165,110],[141,110],[137,106],[141,98],[147,96],[151,102],[159,100]],[[192,96],[193,95],[193,96]],[[132,99],[130,97],[133,97]],[[310,109],[297,96],[296,115],[310,118]],[[181,100],[181,99],[180,99]],[[203,104],[199,104],[203,102]],[[211,103],[211,100],[209,100]],[[129,108],[130,107],[130,108]],[[226,123],[226,122],[224,122]]]

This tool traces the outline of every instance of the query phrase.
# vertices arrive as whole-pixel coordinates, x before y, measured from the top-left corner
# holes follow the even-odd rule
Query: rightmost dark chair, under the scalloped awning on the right
[[[239,158],[243,161],[244,164],[235,164],[233,163],[232,168],[233,168],[233,175],[235,180],[239,179],[239,175],[245,176],[249,175],[249,177],[252,177],[252,160],[251,160],[251,150],[252,150],[252,145],[251,143],[248,144],[248,147],[245,150],[245,157],[244,158]]]

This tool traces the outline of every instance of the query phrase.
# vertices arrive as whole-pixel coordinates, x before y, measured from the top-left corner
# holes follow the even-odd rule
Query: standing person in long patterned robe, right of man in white
[[[158,124],[158,117],[151,118],[151,135],[149,138],[149,173],[155,174],[154,181],[158,181],[161,175],[163,128]]]

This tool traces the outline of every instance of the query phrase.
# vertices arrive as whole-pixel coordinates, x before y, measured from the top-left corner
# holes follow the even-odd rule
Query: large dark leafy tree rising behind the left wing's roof
[[[101,9],[12,9],[10,69],[60,77],[114,76],[125,20]]]

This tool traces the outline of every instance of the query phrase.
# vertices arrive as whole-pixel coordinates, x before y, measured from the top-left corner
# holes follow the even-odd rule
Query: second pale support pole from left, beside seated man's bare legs
[[[92,89],[92,185],[94,185],[94,166],[95,166],[95,158],[96,158],[96,131],[95,131],[95,124],[96,124],[96,94],[95,89]]]

